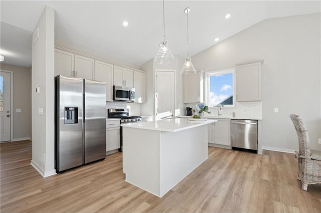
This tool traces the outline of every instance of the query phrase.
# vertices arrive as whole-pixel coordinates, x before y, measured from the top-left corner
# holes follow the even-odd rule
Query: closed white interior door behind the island
[[[156,120],[175,115],[175,71],[156,71]]]

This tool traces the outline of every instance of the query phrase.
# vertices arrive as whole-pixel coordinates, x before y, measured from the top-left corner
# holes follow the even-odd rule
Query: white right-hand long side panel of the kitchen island
[[[161,196],[208,158],[207,125],[161,131]]]

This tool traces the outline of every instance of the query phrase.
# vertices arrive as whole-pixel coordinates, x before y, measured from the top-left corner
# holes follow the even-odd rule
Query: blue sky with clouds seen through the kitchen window
[[[216,106],[233,95],[233,73],[210,76],[209,105]]]

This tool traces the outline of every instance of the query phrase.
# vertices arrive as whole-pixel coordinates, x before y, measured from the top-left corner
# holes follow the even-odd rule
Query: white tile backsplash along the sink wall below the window
[[[245,101],[245,102],[236,102],[236,106],[233,108],[222,107],[221,114],[223,116],[232,116],[235,112],[235,117],[244,117],[244,118],[262,118],[262,101]],[[194,107],[196,103],[187,103],[186,107]],[[218,107],[210,108],[210,116],[217,116]],[[186,111],[185,114],[186,115]]]

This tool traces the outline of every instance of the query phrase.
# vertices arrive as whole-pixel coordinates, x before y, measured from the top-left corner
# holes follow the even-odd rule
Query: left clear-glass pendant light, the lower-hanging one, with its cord
[[[170,64],[174,63],[175,57],[167,45],[167,39],[165,35],[165,7],[164,7],[164,0],[163,0],[163,26],[164,26],[164,35],[161,43],[159,44],[159,49],[157,55],[155,57],[155,63],[158,64]]]

